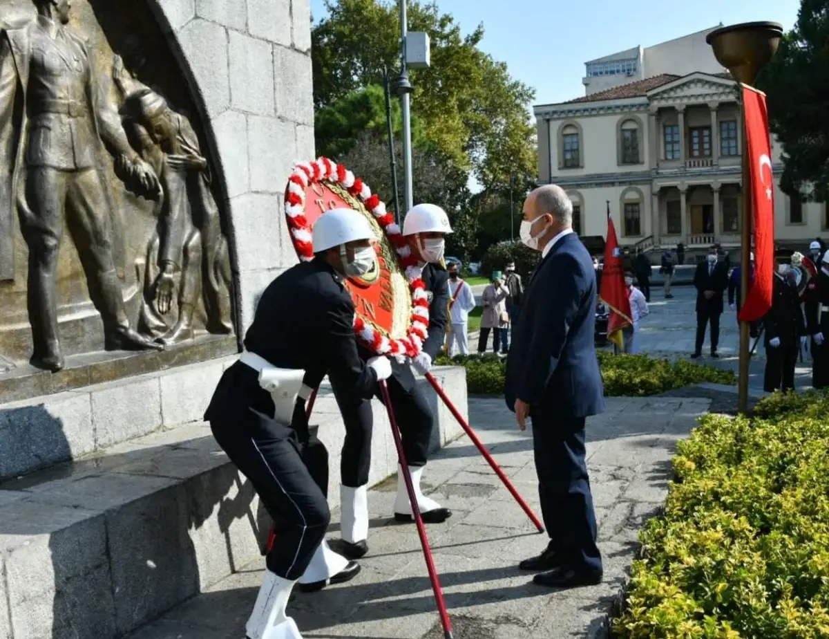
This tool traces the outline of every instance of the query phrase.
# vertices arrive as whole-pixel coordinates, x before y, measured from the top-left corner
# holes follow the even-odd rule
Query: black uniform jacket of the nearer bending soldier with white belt
[[[344,393],[371,398],[377,375],[357,355],[353,324],[354,303],[342,279],[315,258],[292,266],[264,290],[245,349],[277,368],[303,369],[311,388],[327,373]],[[259,373],[236,362],[222,375],[205,419],[234,419],[248,408],[274,414]]]

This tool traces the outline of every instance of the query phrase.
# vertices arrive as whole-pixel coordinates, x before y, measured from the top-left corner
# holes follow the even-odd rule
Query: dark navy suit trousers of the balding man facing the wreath
[[[561,418],[555,408],[531,407],[533,455],[541,516],[550,547],[567,568],[602,569],[598,526],[587,474],[584,417]]]

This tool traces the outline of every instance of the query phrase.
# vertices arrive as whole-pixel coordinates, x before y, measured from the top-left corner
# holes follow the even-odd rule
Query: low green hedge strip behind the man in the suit
[[[653,359],[647,355],[613,355],[599,351],[599,366],[604,377],[604,394],[611,397],[646,397],[665,393],[692,383],[734,384],[731,371],[680,360]],[[440,356],[439,364],[463,364],[467,373],[467,390],[473,395],[504,393],[505,359],[495,355]]]

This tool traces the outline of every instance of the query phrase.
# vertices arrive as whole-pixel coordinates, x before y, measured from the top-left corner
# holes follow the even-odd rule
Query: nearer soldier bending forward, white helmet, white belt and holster
[[[216,441],[254,485],[278,533],[247,622],[248,639],[301,639],[285,616],[294,583],[316,590],[360,570],[324,541],[330,519],[327,452],[308,437],[304,411],[305,399],[326,373],[345,393],[363,398],[391,374],[388,359],[366,363],[357,355],[354,304],[342,280],[378,267],[373,237],[366,218],[351,209],[318,219],[314,259],[288,269],[264,290],[245,352],[222,375],[205,413]]]

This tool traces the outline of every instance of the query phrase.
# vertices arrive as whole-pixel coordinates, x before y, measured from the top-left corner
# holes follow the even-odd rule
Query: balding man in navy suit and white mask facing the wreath
[[[602,556],[584,453],[585,417],[604,411],[594,347],[596,278],[574,234],[564,189],[545,184],[524,202],[521,241],[541,251],[507,358],[505,396],[518,427],[532,420],[541,514],[550,543],[520,568],[569,588],[599,583]]]

